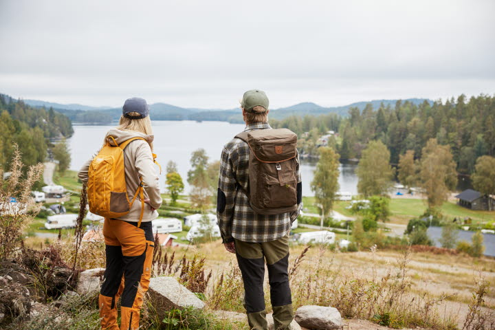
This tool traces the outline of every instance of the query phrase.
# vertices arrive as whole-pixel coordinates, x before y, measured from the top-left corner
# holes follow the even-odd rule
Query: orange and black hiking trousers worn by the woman
[[[151,221],[142,222],[138,228],[137,223],[105,219],[103,236],[107,269],[98,300],[102,329],[137,330],[155,247]],[[119,297],[120,328],[117,324]]]

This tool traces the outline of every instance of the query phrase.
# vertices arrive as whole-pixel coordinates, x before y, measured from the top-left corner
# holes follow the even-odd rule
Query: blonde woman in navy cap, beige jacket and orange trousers
[[[158,175],[153,164],[153,132],[146,100],[129,98],[122,107],[119,126],[111,129],[104,138],[104,146],[124,147],[125,184],[129,200],[135,201],[128,214],[118,219],[105,219],[103,236],[107,256],[107,269],[100,290],[99,305],[102,329],[117,330],[117,301],[121,302],[120,329],[138,329],[143,295],[148,289],[153,259],[153,232],[151,221],[157,217],[156,209],[162,205]],[[96,155],[94,155],[96,157]],[[89,180],[89,159],[79,171],[79,178]],[[143,186],[144,198],[137,193]],[[142,210],[144,206],[144,210]]]

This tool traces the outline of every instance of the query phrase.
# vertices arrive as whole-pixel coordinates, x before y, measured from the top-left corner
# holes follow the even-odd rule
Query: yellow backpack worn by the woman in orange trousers
[[[117,144],[110,136],[115,146],[109,142],[100,150],[89,165],[89,180],[87,195],[89,211],[105,218],[119,218],[131,211],[137,195],[141,199],[141,215],[137,226],[141,225],[144,213],[143,182],[137,187],[132,201],[129,201],[125,181],[124,148],[134,140],[144,140],[142,137],[133,137],[121,144]],[[153,154],[153,160],[156,155]],[[156,163],[156,162],[155,162]]]

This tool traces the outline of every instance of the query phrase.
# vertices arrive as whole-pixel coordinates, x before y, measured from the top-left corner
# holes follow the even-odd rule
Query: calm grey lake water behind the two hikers
[[[71,149],[72,170],[79,168],[95,153],[102,145],[105,133],[113,126],[98,125],[77,125],[74,124],[74,135],[69,139]],[[155,141],[153,147],[158,155],[157,162],[162,165],[165,172],[166,163],[173,160],[177,163],[179,173],[184,179],[186,189],[190,187],[187,183],[187,173],[190,169],[190,156],[197,148],[206,150],[210,162],[220,159],[221,150],[228,140],[237,133],[244,130],[243,124],[229,124],[228,122],[195,122],[195,121],[153,121],[153,132]],[[301,162],[300,171],[303,177],[303,195],[314,195],[309,184],[313,179],[313,172],[316,162]],[[340,165],[340,191],[351,192],[355,195],[358,192],[358,177],[355,175],[355,164]],[[160,186],[162,191],[165,187],[165,174],[162,173]]]

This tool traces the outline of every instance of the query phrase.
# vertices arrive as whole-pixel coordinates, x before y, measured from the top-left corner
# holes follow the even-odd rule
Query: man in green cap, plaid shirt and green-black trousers
[[[267,123],[268,98],[263,91],[246,91],[241,101],[245,132],[272,129]],[[235,253],[241,269],[245,309],[251,329],[267,329],[263,279],[265,261],[274,311],[274,329],[289,329],[293,319],[289,287],[289,232],[298,217],[301,199],[299,161],[296,160],[297,207],[281,214],[254,212],[248,199],[250,146],[234,138],[223,147],[217,217],[223,244]],[[294,182],[295,184],[295,182]]]

